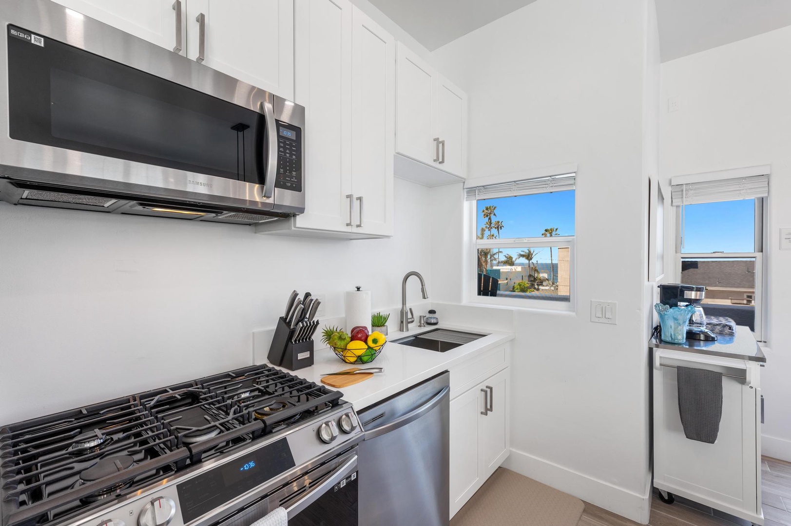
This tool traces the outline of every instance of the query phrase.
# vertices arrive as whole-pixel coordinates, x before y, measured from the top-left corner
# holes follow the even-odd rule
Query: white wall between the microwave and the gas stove
[[[400,305],[430,274],[428,189],[395,180],[395,207],[391,239],[343,241],[0,203],[0,423],[249,365],[292,289],[326,317],[357,285]]]

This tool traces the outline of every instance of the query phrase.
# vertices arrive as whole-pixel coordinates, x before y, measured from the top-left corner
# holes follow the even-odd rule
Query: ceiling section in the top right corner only
[[[662,62],[791,25],[791,0],[656,0]]]

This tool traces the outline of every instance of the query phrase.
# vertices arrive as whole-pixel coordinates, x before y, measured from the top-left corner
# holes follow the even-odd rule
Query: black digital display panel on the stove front
[[[184,523],[224,505],[296,466],[286,438],[176,486]]]

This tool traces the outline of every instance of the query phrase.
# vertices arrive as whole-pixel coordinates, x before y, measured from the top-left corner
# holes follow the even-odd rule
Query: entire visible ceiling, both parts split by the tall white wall
[[[429,51],[535,1],[370,0]],[[791,0],[656,2],[662,62],[791,25]]]

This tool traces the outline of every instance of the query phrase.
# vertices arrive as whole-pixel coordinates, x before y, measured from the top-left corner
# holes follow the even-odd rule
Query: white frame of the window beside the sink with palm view
[[[574,189],[576,191],[576,188]],[[552,193],[552,192],[541,192]],[[478,239],[478,200],[464,202],[467,206],[467,265],[464,268],[466,276],[466,299],[469,304],[506,308],[541,309],[544,311],[576,312],[577,308],[577,206],[574,206],[574,236],[554,237],[503,237],[493,240]],[[501,297],[478,295],[478,249],[479,248],[569,248],[569,301],[556,301],[532,297]]]

